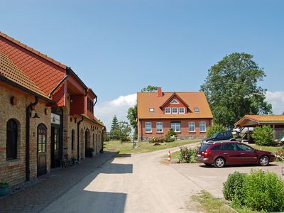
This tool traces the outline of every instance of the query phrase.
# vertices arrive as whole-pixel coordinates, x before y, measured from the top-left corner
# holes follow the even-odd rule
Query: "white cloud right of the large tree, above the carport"
[[[266,92],[266,100],[272,104],[273,114],[282,114],[284,111],[284,91]]]

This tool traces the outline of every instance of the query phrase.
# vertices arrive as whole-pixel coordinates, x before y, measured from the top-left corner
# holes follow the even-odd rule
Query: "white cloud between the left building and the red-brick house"
[[[107,126],[107,131],[109,131],[114,115],[116,115],[119,121],[128,121],[126,118],[127,110],[136,104],[136,99],[136,94],[128,94],[110,102],[98,103],[94,106],[94,114],[103,121],[104,126]]]

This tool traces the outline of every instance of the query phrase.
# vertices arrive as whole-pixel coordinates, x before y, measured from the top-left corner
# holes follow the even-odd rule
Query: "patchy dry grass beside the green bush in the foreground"
[[[235,211],[239,213],[256,213],[255,211],[252,211],[251,209],[248,209],[246,207],[231,205],[230,202],[213,197],[209,192],[206,192],[204,190],[202,190],[197,195],[193,195],[192,200],[200,204],[199,209],[208,213],[229,213]],[[233,208],[235,211],[230,207]]]

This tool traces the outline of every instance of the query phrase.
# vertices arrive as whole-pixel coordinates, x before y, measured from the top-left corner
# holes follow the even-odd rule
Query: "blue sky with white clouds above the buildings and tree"
[[[0,0],[0,31],[72,67],[109,129],[147,85],[198,91],[225,55],[250,53],[284,111],[284,1]]]

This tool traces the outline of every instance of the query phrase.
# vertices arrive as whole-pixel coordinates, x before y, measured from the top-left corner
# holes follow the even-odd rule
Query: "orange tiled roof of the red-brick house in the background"
[[[192,112],[186,114],[163,114],[160,106],[173,96],[178,97],[188,105]],[[194,108],[198,107],[200,112],[195,112]],[[150,112],[149,108],[154,108]],[[138,119],[212,119],[213,115],[204,92],[163,92],[163,97],[158,97],[157,92],[137,92],[137,116]]]

